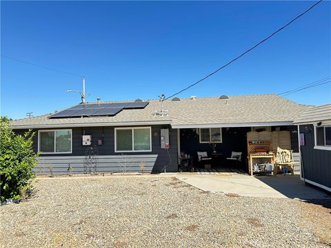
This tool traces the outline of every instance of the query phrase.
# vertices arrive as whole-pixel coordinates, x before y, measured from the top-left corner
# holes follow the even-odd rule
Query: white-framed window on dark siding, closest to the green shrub
[[[38,150],[48,153],[71,153],[72,130],[39,130]]]

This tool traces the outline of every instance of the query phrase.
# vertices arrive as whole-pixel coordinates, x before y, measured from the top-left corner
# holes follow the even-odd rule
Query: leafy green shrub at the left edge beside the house
[[[23,136],[12,132],[9,121],[0,119],[0,201],[20,200],[32,188],[37,156],[32,149],[32,130]]]

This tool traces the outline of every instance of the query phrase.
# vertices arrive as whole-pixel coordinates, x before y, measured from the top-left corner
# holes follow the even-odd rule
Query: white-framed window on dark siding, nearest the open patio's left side
[[[115,152],[152,152],[150,127],[115,128]]]

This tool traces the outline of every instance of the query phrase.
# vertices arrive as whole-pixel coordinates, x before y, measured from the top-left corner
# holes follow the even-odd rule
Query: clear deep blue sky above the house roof
[[[1,1],[1,55],[86,76],[88,101],[170,96],[297,16],[312,1]],[[267,94],[330,76],[324,1],[239,61],[179,97]],[[81,77],[1,57],[1,115],[79,103]],[[331,102],[330,83],[286,96]]]

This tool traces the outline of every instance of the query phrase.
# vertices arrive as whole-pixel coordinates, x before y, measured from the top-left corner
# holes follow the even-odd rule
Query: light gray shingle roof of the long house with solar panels
[[[171,124],[175,128],[182,125],[199,127],[213,124],[241,126],[245,123],[251,125],[292,122],[310,107],[294,103],[276,94],[228,96],[226,100],[214,96],[164,101],[164,110],[168,110],[168,116],[155,116],[154,111],[161,110],[160,101],[146,101],[149,104],[143,109],[126,110],[115,116],[48,118],[50,115],[44,115],[12,121],[11,125],[16,129],[154,124]],[[119,103],[119,101],[100,103]]]

